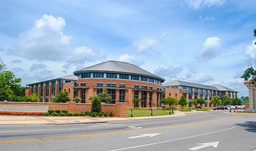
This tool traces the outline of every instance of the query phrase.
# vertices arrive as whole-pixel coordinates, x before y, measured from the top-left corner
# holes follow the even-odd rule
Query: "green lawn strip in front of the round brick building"
[[[171,111],[172,112],[172,111]],[[127,109],[128,117],[131,117],[131,109]],[[153,110],[153,116],[169,115],[168,110]],[[151,110],[133,110],[133,117],[151,116]]]

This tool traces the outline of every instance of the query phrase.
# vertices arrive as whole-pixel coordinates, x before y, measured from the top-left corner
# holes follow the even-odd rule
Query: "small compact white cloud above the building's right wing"
[[[219,51],[219,48],[223,43],[218,37],[208,37],[203,44],[202,51],[197,54],[196,58],[200,62],[207,62],[212,58],[216,58],[221,55],[222,52]]]

